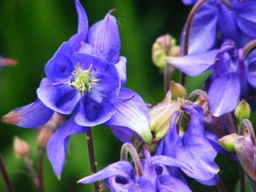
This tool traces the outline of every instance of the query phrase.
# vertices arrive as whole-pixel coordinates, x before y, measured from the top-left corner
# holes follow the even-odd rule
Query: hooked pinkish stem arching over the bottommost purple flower
[[[128,153],[130,153],[131,157],[133,158],[134,166],[135,166],[135,173],[138,177],[142,176],[142,165],[141,160],[139,160],[139,155],[136,149],[130,143],[123,144],[121,148],[121,160],[128,161]]]

